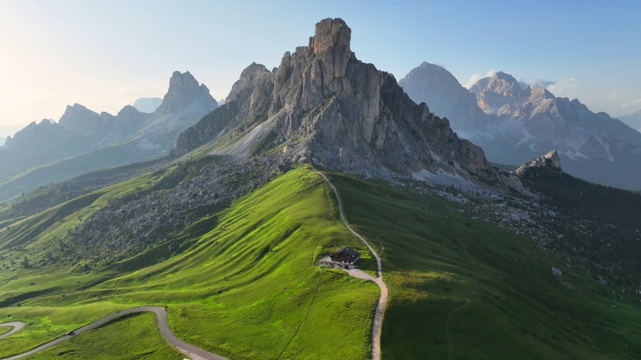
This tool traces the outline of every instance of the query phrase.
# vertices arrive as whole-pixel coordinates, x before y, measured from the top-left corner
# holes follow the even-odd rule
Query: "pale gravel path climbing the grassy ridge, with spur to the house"
[[[338,190],[334,184],[329,181],[328,177],[323,174],[322,172],[316,172],[320,176],[322,176],[323,179],[325,179],[326,183],[329,185],[329,188],[335,193],[336,198],[338,199],[338,210],[340,211],[340,218],[343,220],[343,224],[353,233],[356,235],[357,238],[359,238],[367,249],[369,249],[369,252],[372,253],[372,256],[374,256],[374,259],[376,259],[376,266],[378,268],[378,277],[374,277],[370,274],[367,274],[366,272],[363,272],[362,270],[358,269],[349,269],[345,270],[347,274],[352,275],[354,277],[358,277],[359,279],[365,279],[365,280],[371,280],[376,282],[378,284],[378,287],[381,288],[381,296],[378,298],[378,304],[376,304],[376,311],[374,312],[374,323],[372,324],[372,360],[380,360],[381,359],[381,328],[383,327],[383,313],[385,312],[385,306],[387,306],[387,295],[388,295],[388,290],[387,290],[387,285],[385,282],[383,282],[383,270],[381,270],[381,258],[378,257],[378,254],[376,254],[376,251],[374,251],[374,248],[372,248],[371,245],[363,238],[363,236],[360,236],[360,234],[356,233],[354,229],[349,225],[349,222],[347,222],[347,217],[345,217],[345,210],[343,209],[343,200],[340,197],[340,193],[338,193]]]

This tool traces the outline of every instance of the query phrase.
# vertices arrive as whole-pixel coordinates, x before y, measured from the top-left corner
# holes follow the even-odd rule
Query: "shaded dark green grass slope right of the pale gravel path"
[[[382,181],[332,174],[378,248],[383,359],[638,359],[641,309],[528,238]],[[609,295],[608,295],[609,294]],[[614,307],[615,306],[615,307]]]

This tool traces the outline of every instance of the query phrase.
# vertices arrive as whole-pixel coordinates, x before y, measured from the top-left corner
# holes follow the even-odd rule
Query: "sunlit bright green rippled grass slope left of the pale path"
[[[233,359],[369,358],[378,287],[316,266],[322,253],[336,247],[365,250],[338,223],[328,189],[310,168],[292,170],[194,225],[198,229],[173,235],[204,229],[190,249],[142,270],[127,273],[125,265],[87,273],[61,268],[31,276],[21,270],[20,279],[0,284],[0,292],[10,291],[13,299],[29,293],[20,307],[1,309],[0,321],[26,321],[22,336],[36,339],[3,342],[0,356],[51,340],[76,322],[152,304],[167,307],[179,338]],[[33,289],[47,291],[34,294]],[[37,309],[76,316],[50,319],[29,313]],[[144,325],[131,321],[133,328]],[[54,329],[48,330],[50,324]],[[104,336],[116,335],[108,327],[104,331]],[[120,333],[135,336],[133,331]]]

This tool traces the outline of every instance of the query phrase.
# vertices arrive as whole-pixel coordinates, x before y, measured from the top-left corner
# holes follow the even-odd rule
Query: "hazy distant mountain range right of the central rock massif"
[[[399,85],[416,102],[449,120],[488,160],[520,164],[556,149],[565,170],[595,183],[641,188],[641,133],[578,99],[554,97],[497,72],[470,90],[447,70],[422,63]]]

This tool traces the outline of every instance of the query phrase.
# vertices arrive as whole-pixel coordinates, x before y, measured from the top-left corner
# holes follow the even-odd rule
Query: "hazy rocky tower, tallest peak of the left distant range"
[[[169,114],[187,108],[194,102],[203,102],[206,106],[217,108],[218,104],[209,94],[209,89],[198,81],[190,72],[175,71],[169,79],[169,90],[158,107],[161,114]]]

